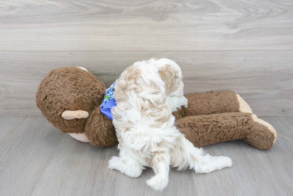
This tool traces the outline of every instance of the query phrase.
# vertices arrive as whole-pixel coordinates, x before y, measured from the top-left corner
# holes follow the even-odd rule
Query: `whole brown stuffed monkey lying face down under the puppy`
[[[42,114],[63,133],[101,147],[117,145],[112,120],[100,111],[105,86],[85,68],[51,70],[36,92]],[[277,138],[271,124],[257,118],[235,92],[186,95],[188,107],[173,115],[177,128],[196,147],[234,139],[270,149]]]

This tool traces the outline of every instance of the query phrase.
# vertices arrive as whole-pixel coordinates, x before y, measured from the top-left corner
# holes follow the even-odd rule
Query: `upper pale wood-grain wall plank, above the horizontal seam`
[[[0,50],[293,49],[293,1],[1,0]]]

